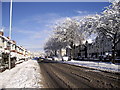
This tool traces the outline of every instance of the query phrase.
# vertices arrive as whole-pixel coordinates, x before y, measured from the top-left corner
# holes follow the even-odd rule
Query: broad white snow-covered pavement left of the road
[[[0,88],[41,88],[42,75],[37,61],[28,60],[0,73]]]

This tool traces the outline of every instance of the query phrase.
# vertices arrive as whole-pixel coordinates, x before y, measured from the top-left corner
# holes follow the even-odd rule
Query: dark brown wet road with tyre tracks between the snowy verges
[[[120,75],[54,61],[39,62],[45,88],[120,88]]]

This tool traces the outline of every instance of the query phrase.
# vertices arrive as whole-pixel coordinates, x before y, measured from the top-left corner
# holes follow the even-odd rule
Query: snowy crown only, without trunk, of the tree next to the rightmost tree
[[[80,21],[80,31],[83,32],[84,38],[87,40],[90,36],[96,36],[98,32],[96,31],[96,27],[99,24],[99,18],[101,16],[96,15],[89,15],[85,16]]]

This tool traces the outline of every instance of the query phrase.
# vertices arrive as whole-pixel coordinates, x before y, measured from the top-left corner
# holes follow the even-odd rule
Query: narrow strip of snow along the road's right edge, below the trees
[[[120,64],[112,64],[111,62],[93,62],[93,61],[64,61],[64,63],[77,66],[89,67],[109,72],[120,72]]]

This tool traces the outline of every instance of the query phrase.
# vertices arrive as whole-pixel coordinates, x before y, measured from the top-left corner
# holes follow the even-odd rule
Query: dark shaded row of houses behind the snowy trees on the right
[[[85,44],[74,46],[72,51],[73,58],[99,58],[101,55],[112,55],[112,41],[106,36],[99,36],[92,43],[85,42]],[[120,58],[120,42],[116,46],[116,57]],[[71,49],[62,49],[62,56],[72,56]]]

